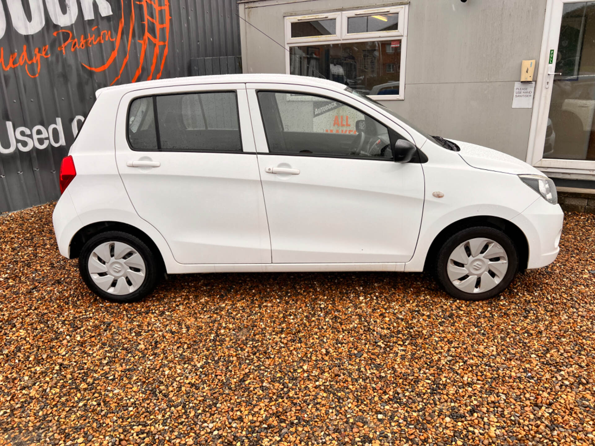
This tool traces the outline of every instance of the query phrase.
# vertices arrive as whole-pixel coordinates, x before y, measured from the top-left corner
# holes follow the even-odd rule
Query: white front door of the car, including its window
[[[393,161],[388,118],[317,87],[247,84],[273,263],[400,263],[414,254],[421,164]]]

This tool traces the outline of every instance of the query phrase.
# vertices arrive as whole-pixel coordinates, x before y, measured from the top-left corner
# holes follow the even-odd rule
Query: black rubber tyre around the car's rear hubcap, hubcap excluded
[[[92,255],[96,247],[108,242],[121,242],[129,245],[142,258],[144,262],[145,271],[142,284],[136,290],[129,294],[113,294],[102,290],[91,277],[89,272],[89,257]],[[124,257],[125,258],[125,257]],[[83,246],[79,256],[79,271],[83,281],[93,293],[102,299],[107,299],[113,302],[127,303],[134,302],[147,296],[155,289],[158,279],[161,275],[161,268],[155,254],[140,238],[135,237],[121,231],[107,231],[105,233],[97,234],[90,238]],[[102,273],[103,274],[103,273]],[[125,278],[126,280],[129,280]],[[129,282],[131,283],[131,282]]]

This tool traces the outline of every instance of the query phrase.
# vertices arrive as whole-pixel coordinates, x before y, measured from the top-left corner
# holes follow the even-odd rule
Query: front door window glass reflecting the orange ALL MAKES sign
[[[270,153],[392,160],[389,130],[338,100],[258,92]]]

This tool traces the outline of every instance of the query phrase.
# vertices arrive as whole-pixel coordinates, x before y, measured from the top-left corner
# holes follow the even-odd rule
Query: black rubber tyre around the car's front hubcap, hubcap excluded
[[[506,257],[508,257],[508,269],[506,270],[504,277],[500,278],[500,281],[495,287],[491,288],[491,290],[484,291],[483,293],[467,293],[457,288],[450,281],[447,272],[449,257],[453,251],[455,251],[459,245],[465,243],[465,241],[480,237],[489,238],[490,240],[493,240],[502,246],[506,253]],[[518,266],[518,253],[515,244],[511,238],[508,237],[508,235],[500,230],[490,227],[474,227],[461,230],[446,240],[438,252],[438,257],[436,260],[436,277],[441,287],[444,288],[444,291],[450,294],[450,296],[455,297],[455,299],[473,301],[486,300],[502,293],[502,291],[511,284],[512,279],[518,272]]]

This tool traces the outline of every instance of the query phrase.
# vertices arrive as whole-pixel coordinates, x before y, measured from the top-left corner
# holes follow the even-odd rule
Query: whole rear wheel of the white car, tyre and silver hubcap
[[[93,293],[116,302],[142,299],[159,277],[151,249],[140,238],[120,231],[90,238],[81,250],[79,271]]]

